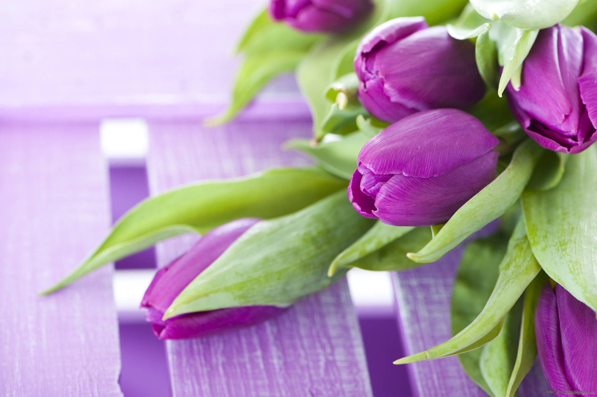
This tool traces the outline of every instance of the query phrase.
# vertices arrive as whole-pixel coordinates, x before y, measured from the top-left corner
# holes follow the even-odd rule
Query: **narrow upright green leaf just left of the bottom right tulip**
[[[510,380],[504,396],[513,397],[521,384],[522,379],[531,370],[537,356],[537,343],[535,340],[535,308],[539,300],[541,287],[547,281],[547,275],[539,272],[528,285],[524,293],[522,307],[522,322],[519,332],[518,349],[516,351],[516,362],[510,374]]]

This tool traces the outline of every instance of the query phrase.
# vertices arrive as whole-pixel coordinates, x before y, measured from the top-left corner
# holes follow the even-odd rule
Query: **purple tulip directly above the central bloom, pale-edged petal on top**
[[[485,93],[475,45],[451,38],[444,26],[428,27],[423,17],[396,18],[368,33],[355,72],[362,106],[389,123],[421,110],[466,109]]]

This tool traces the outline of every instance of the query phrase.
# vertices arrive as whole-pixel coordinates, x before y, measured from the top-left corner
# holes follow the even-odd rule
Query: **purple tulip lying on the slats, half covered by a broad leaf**
[[[187,253],[159,269],[141,301],[141,307],[149,309],[146,320],[152,323],[155,336],[159,339],[205,336],[222,328],[256,324],[285,310],[276,306],[247,306],[183,314],[162,320],[164,312],[184,287],[257,222],[259,219],[245,218],[217,227],[201,237]]]

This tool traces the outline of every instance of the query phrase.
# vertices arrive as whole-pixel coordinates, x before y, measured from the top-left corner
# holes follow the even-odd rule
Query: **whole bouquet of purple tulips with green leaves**
[[[458,355],[488,395],[512,396],[538,355],[553,390],[597,391],[596,21],[595,0],[272,0],[207,122],[295,70],[313,139],[287,147],[318,166],[150,198],[48,292],[205,233],[141,303],[159,338],[198,337],[351,268],[401,271],[467,243],[454,336],[396,364]]]

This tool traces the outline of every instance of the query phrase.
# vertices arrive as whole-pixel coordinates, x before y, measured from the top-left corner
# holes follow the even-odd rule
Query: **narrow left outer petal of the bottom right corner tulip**
[[[564,368],[558,304],[549,281],[539,294],[535,311],[535,334],[539,361],[549,387],[552,390],[574,390]]]

